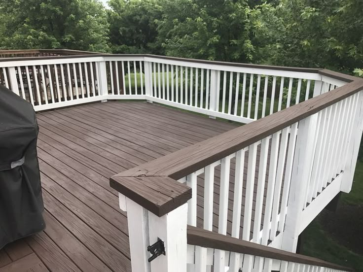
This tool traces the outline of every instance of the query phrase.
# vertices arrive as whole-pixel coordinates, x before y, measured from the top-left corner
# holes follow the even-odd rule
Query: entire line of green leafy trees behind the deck
[[[0,48],[150,53],[363,77],[362,0],[109,0],[109,7],[0,0]]]

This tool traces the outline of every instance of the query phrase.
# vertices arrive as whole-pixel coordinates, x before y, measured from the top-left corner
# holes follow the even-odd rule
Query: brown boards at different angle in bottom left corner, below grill
[[[7,266],[0,268],[0,272],[49,272],[35,253],[25,256]]]

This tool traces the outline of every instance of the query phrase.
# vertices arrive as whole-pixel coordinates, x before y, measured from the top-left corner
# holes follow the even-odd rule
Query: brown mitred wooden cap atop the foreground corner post
[[[110,186],[159,217],[191,199],[191,188],[163,176],[110,178]]]

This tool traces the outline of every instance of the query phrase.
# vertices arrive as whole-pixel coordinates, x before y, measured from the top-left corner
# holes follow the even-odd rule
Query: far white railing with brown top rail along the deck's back
[[[143,99],[249,123],[346,82],[318,70],[237,66],[138,55],[2,59],[0,83],[36,111]]]

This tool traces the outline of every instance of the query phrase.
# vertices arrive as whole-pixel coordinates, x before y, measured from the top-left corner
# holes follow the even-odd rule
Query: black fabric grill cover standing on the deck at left
[[[0,249],[45,228],[32,104],[0,86]]]

